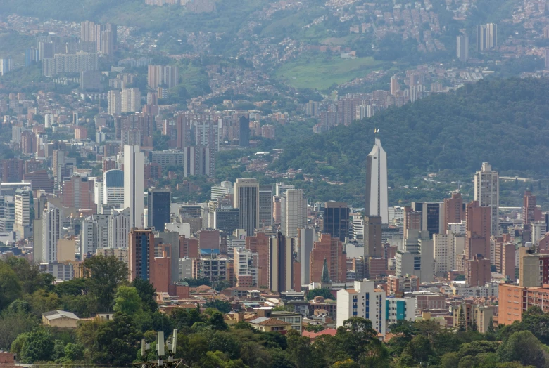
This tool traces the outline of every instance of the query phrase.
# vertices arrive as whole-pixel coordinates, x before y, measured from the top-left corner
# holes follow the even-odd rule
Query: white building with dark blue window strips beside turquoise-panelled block
[[[351,317],[362,317],[372,321],[372,327],[385,336],[386,303],[385,291],[377,289],[371,280],[355,281],[352,289],[337,292],[337,327]]]

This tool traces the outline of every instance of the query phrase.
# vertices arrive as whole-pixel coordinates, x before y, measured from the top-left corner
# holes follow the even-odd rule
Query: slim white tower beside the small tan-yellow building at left
[[[57,242],[63,239],[63,209],[48,202],[48,208],[42,213],[42,262],[57,261]]]

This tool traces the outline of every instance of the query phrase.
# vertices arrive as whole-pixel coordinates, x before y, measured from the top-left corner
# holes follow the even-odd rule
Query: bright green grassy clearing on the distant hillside
[[[282,65],[275,76],[297,88],[325,90],[332,84],[366,77],[370,72],[383,70],[386,65],[372,57],[342,59],[339,55],[320,53],[303,55],[298,60]]]

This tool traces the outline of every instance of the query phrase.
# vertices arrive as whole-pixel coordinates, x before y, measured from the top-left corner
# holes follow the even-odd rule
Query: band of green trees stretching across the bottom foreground
[[[177,328],[177,357],[189,367],[549,367],[549,315],[530,308],[522,322],[490,328],[474,325],[457,331],[433,320],[399,322],[394,335],[381,343],[369,320],[352,317],[335,336],[311,342],[297,331],[282,335],[256,331],[247,322],[225,323],[216,301],[197,309],[158,312],[149,282],[127,283],[127,268],[115,258],[85,261],[88,278],[51,284],[52,277],[21,258],[0,261],[0,350],[10,350],[20,362],[37,364],[127,364],[139,362],[140,341],[155,351],[156,331]],[[215,309],[218,308],[219,310]],[[44,327],[42,313],[63,309],[88,317],[115,311],[112,320],[90,319],[77,329]]]

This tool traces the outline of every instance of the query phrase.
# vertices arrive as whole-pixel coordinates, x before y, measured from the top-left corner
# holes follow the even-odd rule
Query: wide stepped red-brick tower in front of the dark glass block
[[[329,280],[347,280],[347,254],[343,252],[343,243],[329,234],[320,235],[320,239],[313,244],[313,251],[310,253],[310,282],[323,282],[324,262],[327,263]]]

